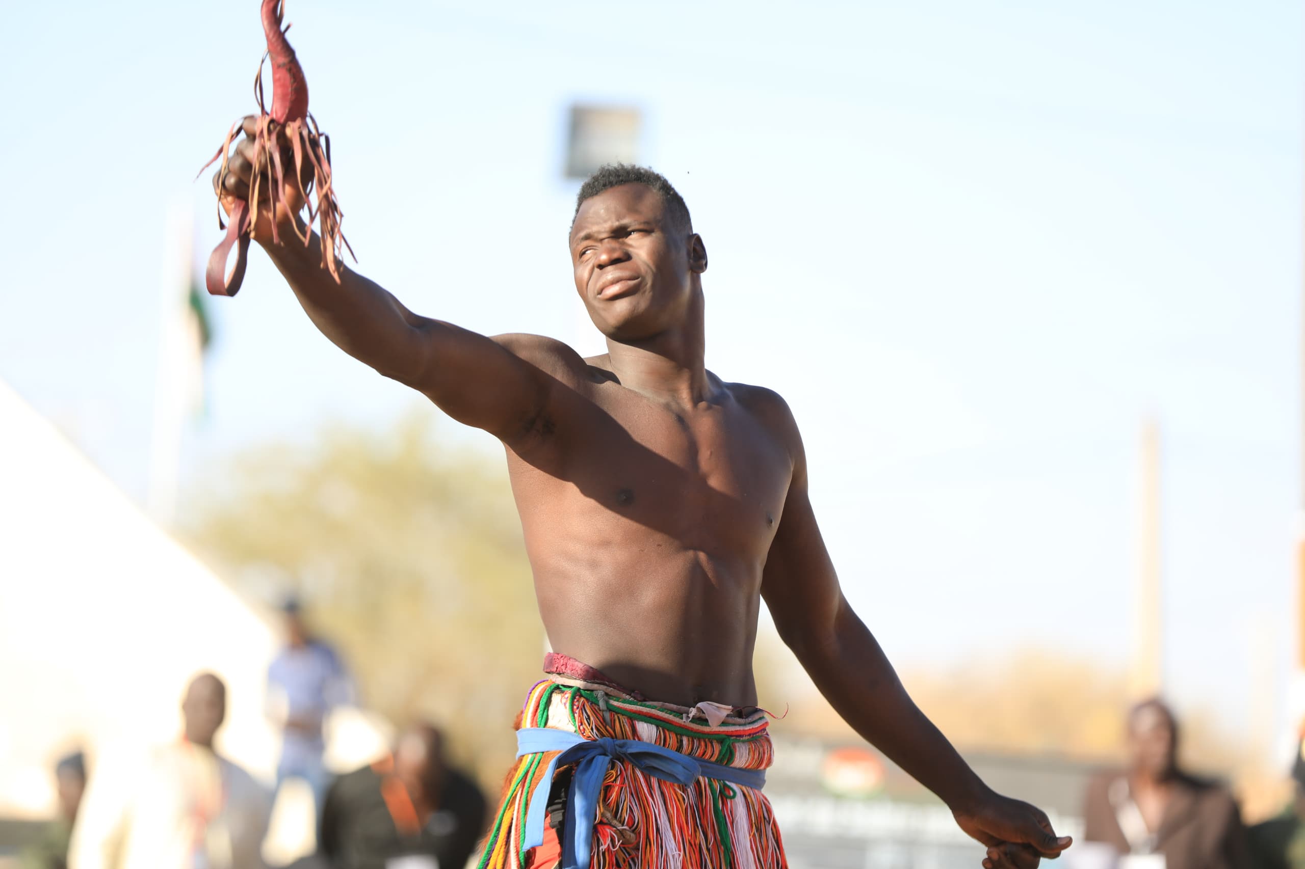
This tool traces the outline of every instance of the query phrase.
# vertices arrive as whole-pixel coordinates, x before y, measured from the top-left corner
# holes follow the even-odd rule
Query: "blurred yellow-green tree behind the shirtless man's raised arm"
[[[543,628],[506,471],[431,419],[238,455],[189,498],[187,536],[249,596],[299,592],[365,706],[436,722],[497,787]]]

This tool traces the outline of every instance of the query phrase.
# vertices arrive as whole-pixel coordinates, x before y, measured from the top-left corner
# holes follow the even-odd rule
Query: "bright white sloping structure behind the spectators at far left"
[[[54,809],[50,767],[176,739],[185,682],[228,688],[221,750],[270,782],[275,630],[0,382],[0,816]]]

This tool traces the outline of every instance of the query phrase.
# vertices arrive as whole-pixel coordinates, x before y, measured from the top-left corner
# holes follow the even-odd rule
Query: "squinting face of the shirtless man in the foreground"
[[[639,341],[684,322],[701,267],[701,241],[666,214],[643,184],[621,184],[585,200],[570,234],[576,291],[599,331]],[[690,265],[690,258],[694,262]]]

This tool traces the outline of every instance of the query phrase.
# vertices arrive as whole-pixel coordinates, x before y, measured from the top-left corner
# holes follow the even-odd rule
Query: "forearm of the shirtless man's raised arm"
[[[299,304],[324,335],[350,356],[388,377],[406,381],[419,358],[415,317],[386,290],[339,266],[339,282],[322,265],[321,237],[313,232],[304,245],[290,227],[282,241],[264,249],[294,290]]]

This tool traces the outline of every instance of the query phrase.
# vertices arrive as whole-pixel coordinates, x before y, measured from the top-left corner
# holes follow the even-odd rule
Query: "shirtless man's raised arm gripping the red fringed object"
[[[236,145],[224,188],[219,191],[224,205],[248,196],[252,129],[252,119],[245,119],[247,138]],[[292,193],[292,187],[287,184],[287,193]],[[287,198],[294,202],[298,196]],[[305,230],[299,215],[277,214],[281,237],[277,243],[268,211],[260,209],[254,240],[286,278],[313,324],[341,350],[424,393],[461,423],[505,441],[529,431],[547,401],[551,382],[538,367],[492,338],[412,313],[386,290],[343,265],[337,283],[322,267],[321,239],[313,234],[305,247],[291,228],[291,222],[296,222]]]

